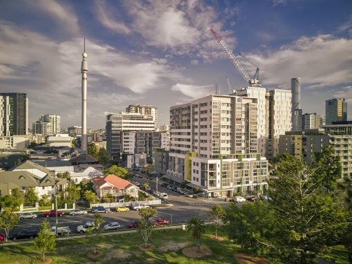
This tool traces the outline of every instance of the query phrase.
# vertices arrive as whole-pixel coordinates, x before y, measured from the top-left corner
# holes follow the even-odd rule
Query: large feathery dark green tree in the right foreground
[[[337,178],[331,173],[321,176],[316,164],[307,165],[289,154],[280,155],[273,165],[267,205],[226,210],[229,229],[235,230],[231,236],[252,252],[266,247],[284,263],[314,263],[326,246],[338,243],[349,223],[339,196],[329,194],[326,185],[334,186]]]

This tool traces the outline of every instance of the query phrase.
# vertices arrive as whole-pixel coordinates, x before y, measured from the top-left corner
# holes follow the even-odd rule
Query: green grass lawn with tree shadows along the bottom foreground
[[[220,232],[224,241],[213,239],[211,227],[206,228],[206,235],[201,240],[213,254],[200,259],[188,258],[182,254],[184,247],[195,246],[195,241],[188,232],[182,229],[155,230],[148,243],[155,245],[155,249],[145,251],[139,245],[143,243],[138,233],[104,236],[99,244],[99,256],[92,256],[92,247],[86,238],[57,241],[55,252],[46,256],[52,258],[52,263],[237,263],[234,253],[240,248],[226,239],[226,235]],[[335,249],[339,255],[339,262],[344,261],[346,250],[342,247]],[[0,249],[0,262],[6,264],[37,263],[38,252],[32,244],[3,247]],[[340,262],[342,261],[342,262]],[[275,262],[273,263],[280,263]]]

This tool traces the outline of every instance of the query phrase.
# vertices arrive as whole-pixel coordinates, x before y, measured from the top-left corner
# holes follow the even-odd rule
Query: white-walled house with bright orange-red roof
[[[125,196],[126,194],[138,197],[138,187],[133,185],[128,180],[124,180],[109,174],[104,177],[96,177],[92,180],[94,182],[93,188],[97,192],[99,198],[104,198],[106,194],[112,194],[115,198]]]

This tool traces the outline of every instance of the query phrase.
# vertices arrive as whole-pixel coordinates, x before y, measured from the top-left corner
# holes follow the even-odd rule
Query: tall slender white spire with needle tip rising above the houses
[[[88,154],[87,147],[87,64],[86,39],[84,39],[84,53],[82,53],[82,140],[81,140],[81,155]]]

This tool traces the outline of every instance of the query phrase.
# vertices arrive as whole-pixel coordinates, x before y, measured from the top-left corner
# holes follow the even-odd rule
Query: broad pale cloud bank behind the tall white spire
[[[30,121],[57,111],[66,123],[79,123],[83,39],[53,41],[0,21],[0,49],[6,50],[0,53],[0,80],[6,82],[8,92],[28,94]],[[120,53],[90,39],[86,40],[86,51],[91,117],[124,110],[121,105],[126,106],[126,101],[135,102],[142,93],[177,74],[165,64]]]

